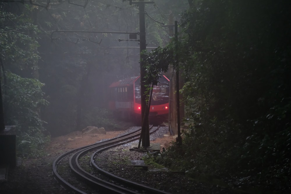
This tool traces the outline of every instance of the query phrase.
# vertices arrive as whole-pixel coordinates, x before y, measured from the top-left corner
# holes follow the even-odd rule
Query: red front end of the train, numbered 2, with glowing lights
[[[153,87],[150,103],[150,121],[159,122],[168,118],[169,113],[169,79],[162,75],[159,83]],[[134,81],[134,113],[141,115],[141,85],[140,77]]]

